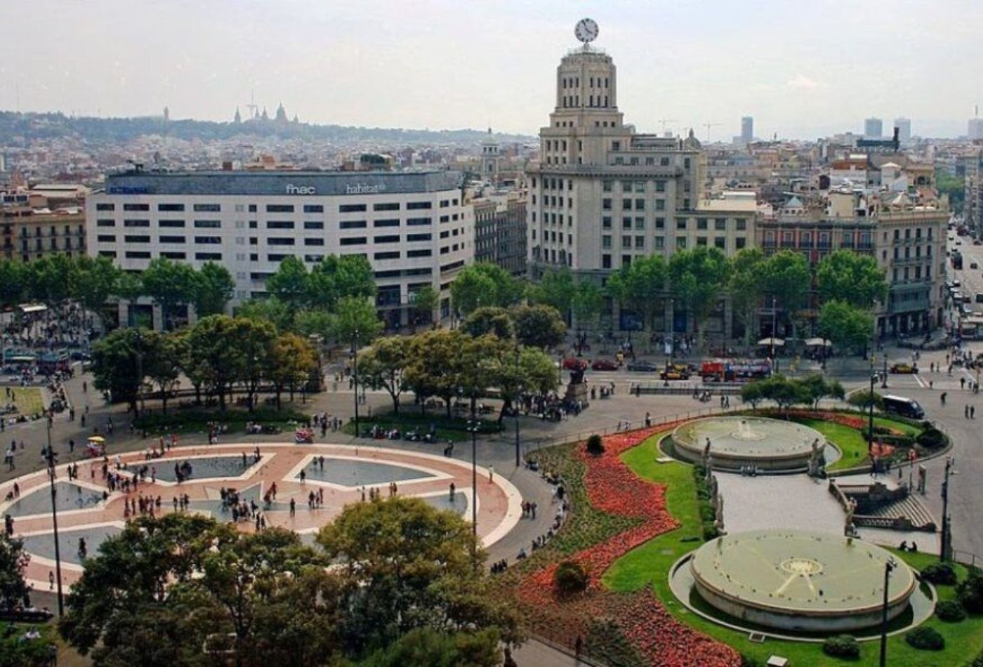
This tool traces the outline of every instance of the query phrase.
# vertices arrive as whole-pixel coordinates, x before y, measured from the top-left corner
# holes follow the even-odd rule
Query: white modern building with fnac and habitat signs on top
[[[376,304],[397,328],[424,286],[440,293],[447,314],[450,283],[474,257],[460,181],[451,171],[110,174],[87,198],[88,253],[128,271],[155,257],[218,262],[235,279],[232,305],[264,296],[285,257],[310,268],[327,254],[362,254],[376,270]]]

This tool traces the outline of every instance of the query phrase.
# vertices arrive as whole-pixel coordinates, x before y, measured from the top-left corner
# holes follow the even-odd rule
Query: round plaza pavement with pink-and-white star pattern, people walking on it
[[[255,459],[255,449],[260,460]],[[323,465],[320,458],[323,457]],[[145,451],[120,455],[121,472],[132,477],[146,467],[145,479],[129,493],[110,491],[102,475],[101,459],[79,463],[79,479],[68,479],[68,464],[59,466],[56,481],[59,546],[63,584],[71,586],[82,574],[80,539],[87,553],[98,549],[106,537],[125,526],[126,501],[144,496],[154,502],[158,516],[177,509],[175,499],[187,494],[188,512],[232,521],[223,507],[222,489],[235,489],[241,501],[254,501],[267,526],[291,528],[310,541],[318,528],[328,524],[342,508],[368,497],[375,488],[384,497],[389,484],[402,496],[424,498],[438,509],[452,510],[471,521],[471,466],[465,462],[422,452],[342,444],[293,445],[282,443],[222,444],[176,447],[157,459],[146,459]],[[190,478],[178,482],[176,467],[187,462]],[[115,469],[116,457],[108,460]],[[303,472],[303,474],[302,474]],[[54,540],[51,527],[51,495],[47,473],[32,472],[0,484],[0,498],[7,498],[17,483],[20,495],[0,502],[0,514],[14,517],[14,532],[25,538],[31,558],[27,579],[35,590],[47,590],[54,571]],[[276,497],[267,505],[264,496],[276,484]],[[449,488],[456,486],[455,498]],[[518,524],[521,516],[519,491],[506,478],[478,468],[478,536],[486,546],[501,539]],[[323,494],[317,509],[309,506],[312,492]],[[365,494],[365,495],[364,495]],[[290,501],[295,511],[290,512]],[[255,529],[244,520],[238,528]]]

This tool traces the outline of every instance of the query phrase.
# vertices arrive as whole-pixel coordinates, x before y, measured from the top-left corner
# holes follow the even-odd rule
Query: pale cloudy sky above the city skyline
[[[595,45],[640,132],[955,137],[983,104],[980,0],[3,0],[0,109],[535,135]],[[705,124],[712,124],[708,129]],[[717,124],[717,125],[713,125]]]

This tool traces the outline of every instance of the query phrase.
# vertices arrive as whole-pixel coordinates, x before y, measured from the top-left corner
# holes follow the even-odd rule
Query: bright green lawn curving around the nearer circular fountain
[[[752,642],[744,633],[727,630],[693,614],[675,599],[668,585],[668,570],[682,555],[700,545],[700,520],[697,514],[696,487],[689,466],[680,463],[656,463],[655,459],[660,456],[657,442],[658,437],[649,438],[638,447],[625,452],[621,459],[639,476],[667,485],[665,499],[668,510],[682,526],[646,542],[615,561],[605,573],[604,584],[613,590],[624,592],[651,585],[656,596],[664,601],[666,609],[675,618],[730,644],[759,664],[764,664],[773,654],[787,657],[790,667],[840,665],[847,662],[827,656],[819,643],[778,639],[768,639],[764,643]],[[691,541],[693,537],[697,539]],[[905,552],[897,555],[915,568],[935,561],[931,555],[924,553]],[[960,577],[964,574],[965,571],[960,569]],[[937,590],[940,599],[948,599],[954,595],[952,586],[938,586]],[[939,653],[916,650],[902,636],[898,636],[888,640],[888,664],[893,667],[960,667],[983,650],[983,618],[971,618],[957,624],[932,619],[925,625],[935,628],[945,637],[946,650]],[[860,660],[853,664],[877,664],[878,642],[864,641],[860,645]]]

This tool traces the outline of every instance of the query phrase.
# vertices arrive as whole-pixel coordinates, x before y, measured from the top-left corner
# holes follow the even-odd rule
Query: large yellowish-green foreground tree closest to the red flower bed
[[[354,503],[321,528],[318,544],[339,564],[340,632],[356,652],[419,628],[497,629],[507,643],[520,639],[514,612],[489,594],[484,551],[452,512],[400,496]]]

